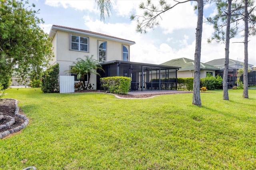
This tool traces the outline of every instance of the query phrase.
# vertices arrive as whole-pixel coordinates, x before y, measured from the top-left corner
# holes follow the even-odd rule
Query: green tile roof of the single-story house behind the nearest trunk
[[[181,69],[179,69],[180,71],[186,71],[186,70],[194,70],[195,62],[192,59],[182,57],[178,59],[172,59],[170,61],[162,63],[161,65],[181,67]],[[214,67],[213,65],[209,65],[206,63],[200,63],[200,69],[219,70],[218,67]]]

